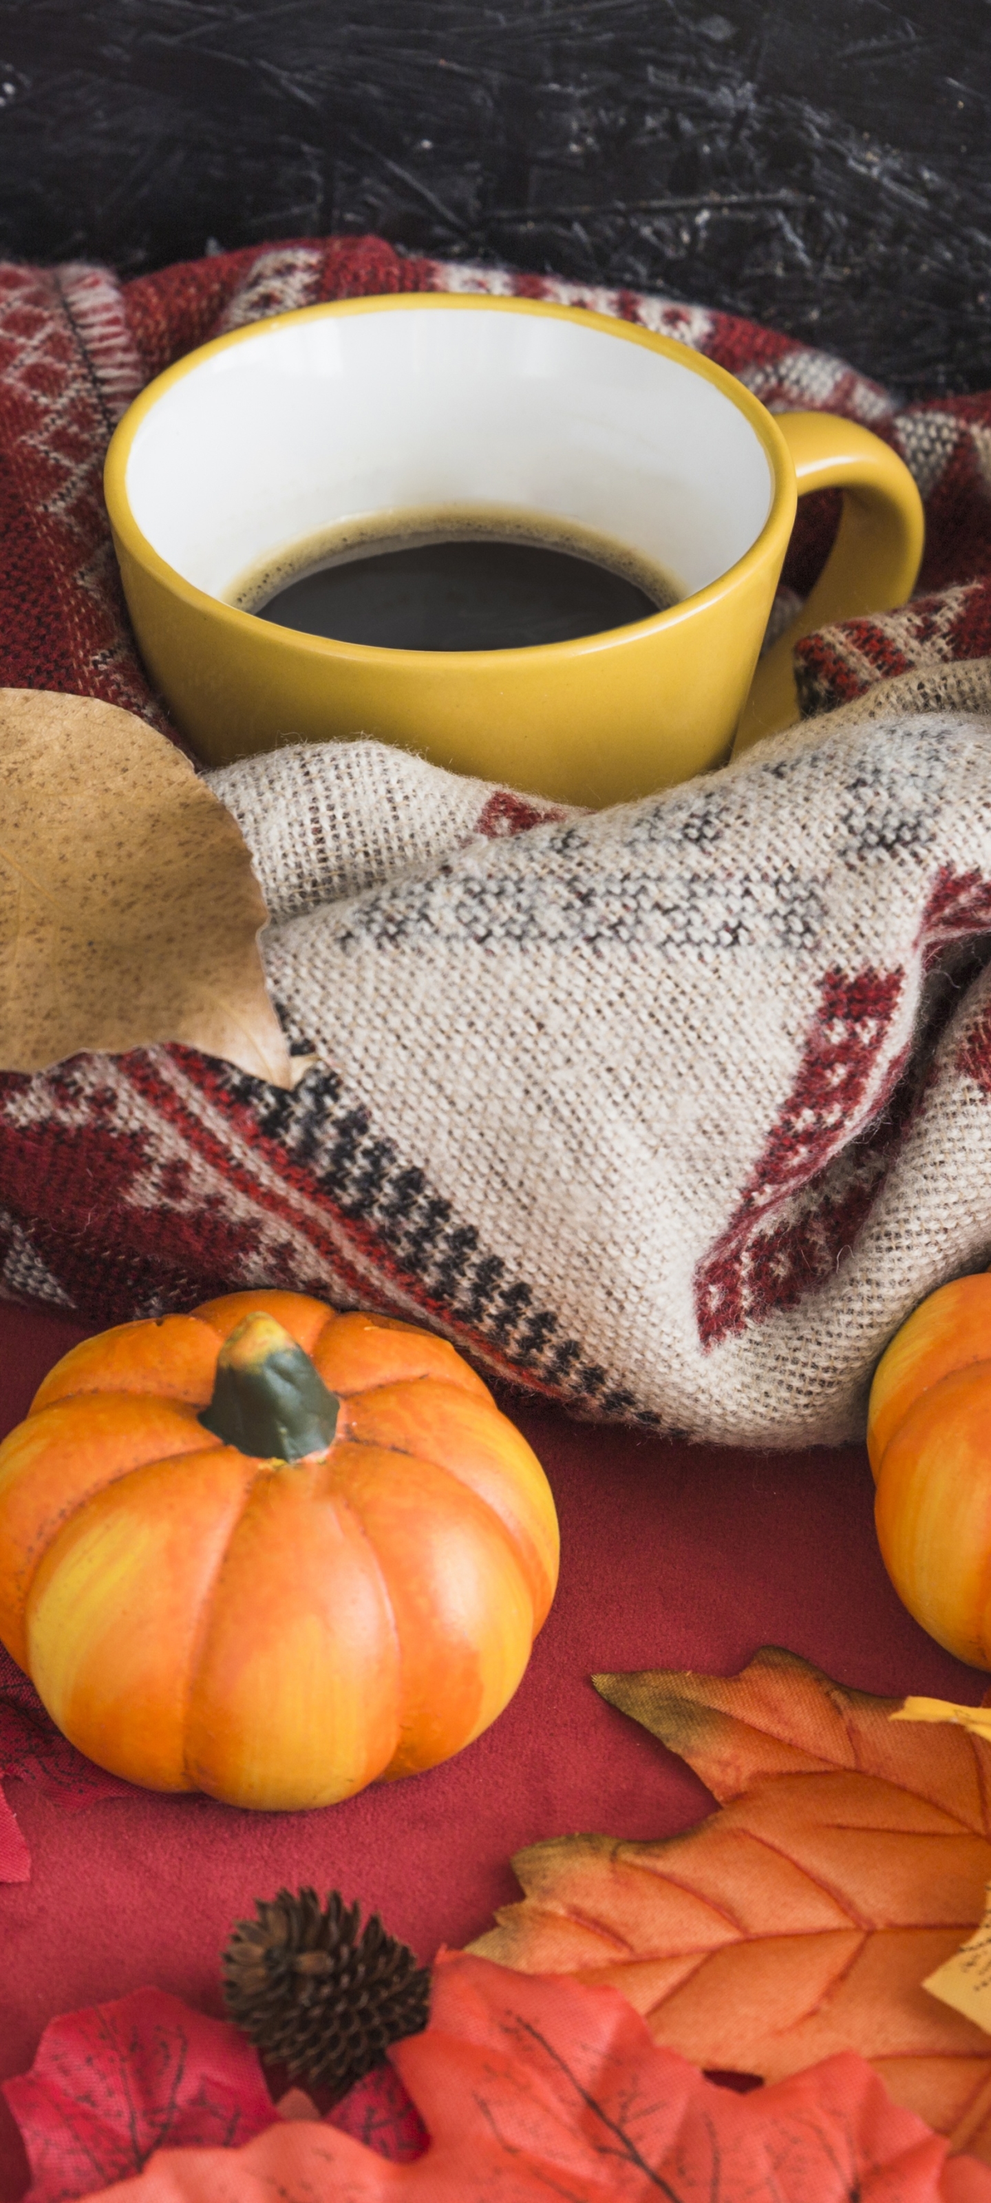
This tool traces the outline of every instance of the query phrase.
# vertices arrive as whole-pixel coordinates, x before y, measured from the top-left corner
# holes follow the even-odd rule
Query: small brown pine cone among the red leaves
[[[337,1890],[324,1910],[315,1890],[264,1903],[238,1921],[225,1950],[231,2020],[271,2064],[344,2095],[381,2062],[390,2042],[427,2025],[429,1969],[385,1934],[374,1912],[359,1934],[359,1906]]]

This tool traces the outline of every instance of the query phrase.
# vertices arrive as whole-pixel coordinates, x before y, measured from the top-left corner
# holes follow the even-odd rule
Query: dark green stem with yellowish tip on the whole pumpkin
[[[255,1461],[302,1461],[333,1445],[339,1406],[288,1331],[258,1313],[225,1339],[214,1399],[198,1421]]]

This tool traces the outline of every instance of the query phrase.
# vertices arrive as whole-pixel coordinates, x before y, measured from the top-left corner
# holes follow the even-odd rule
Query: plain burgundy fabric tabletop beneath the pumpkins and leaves
[[[64,1317],[0,1306],[0,1432],[79,1337]],[[66,1811],[29,1780],[7,1782],[31,1879],[0,1886],[0,2080],[31,2064],[55,2014],[143,1983],[220,2011],[227,1932],[280,1884],[339,1886],[432,1958],[515,1895],[509,1857],[522,1844],[689,1826],[707,1791],[597,1699],[592,1670],[736,1672],[760,1643],[782,1643],[865,1690],[982,1696],[987,1676],[940,1652],[894,1597],[859,1447],[753,1454],[557,1410],[518,1421],[555,1489],[562,1584],[518,1696],[460,1758],[286,1815],[143,1793]],[[24,2185],[0,2099],[0,2203]]]

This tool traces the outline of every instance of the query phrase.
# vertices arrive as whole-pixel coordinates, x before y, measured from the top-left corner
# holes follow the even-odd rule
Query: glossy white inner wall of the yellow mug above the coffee
[[[161,392],[126,487],[159,557],[220,599],[339,522],[465,502],[619,538],[694,595],[773,502],[751,421],[687,361],[496,300],[260,324]]]

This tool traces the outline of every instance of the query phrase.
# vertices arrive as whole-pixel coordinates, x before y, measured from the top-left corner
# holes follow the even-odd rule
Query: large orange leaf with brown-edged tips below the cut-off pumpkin
[[[923,1989],[984,1910],[991,1745],[892,1723],[901,1699],[793,1652],[595,1685],[722,1811],[652,1844],[533,1844],[513,1859],[524,1901],[473,1950],[612,1983],[705,2071],[777,2082],[859,2051],[896,2104],[991,2163],[991,2038]]]

